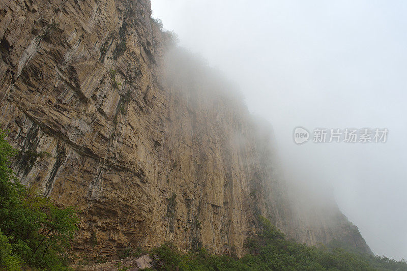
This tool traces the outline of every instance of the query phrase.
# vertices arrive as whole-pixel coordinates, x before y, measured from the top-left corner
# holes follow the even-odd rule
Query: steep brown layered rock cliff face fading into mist
[[[80,209],[74,251],[241,255],[262,214],[300,242],[370,252],[334,204],[290,199],[270,134],[150,16],[149,0],[0,1],[0,125],[22,183]]]

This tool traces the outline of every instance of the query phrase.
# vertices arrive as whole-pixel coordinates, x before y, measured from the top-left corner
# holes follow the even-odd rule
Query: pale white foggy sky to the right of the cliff
[[[407,2],[152,0],[152,10],[272,124],[287,178],[329,187],[373,253],[407,258]],[[309,142],[294,142],[298,126]],[[314,143],[315,128],[389,133]]]

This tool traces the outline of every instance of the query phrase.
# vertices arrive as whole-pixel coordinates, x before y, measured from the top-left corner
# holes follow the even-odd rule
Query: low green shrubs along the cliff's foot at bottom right
[[[308,247],[287,240],[270,221],[259,217],[261,232],[245,242],[250,252],[238,259],[212,255],[205,249],[182,254],[171,245],[153,250],[162,265],[158,270],[407,270],[405,260],[359,254],[338,247]]]

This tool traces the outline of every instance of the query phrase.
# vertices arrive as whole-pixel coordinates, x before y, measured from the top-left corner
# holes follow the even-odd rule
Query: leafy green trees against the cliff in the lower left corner
[[[78,222],[76,211],[57,207],[18,182],[10,168],[16,150],[5,137],[0,130],[0,270],[64,270]]]

